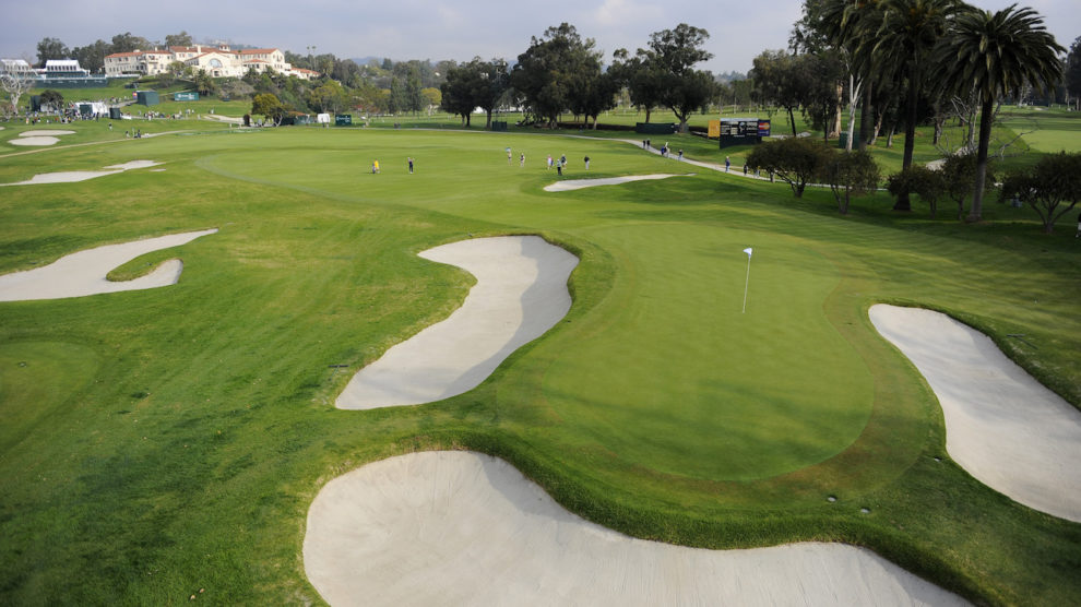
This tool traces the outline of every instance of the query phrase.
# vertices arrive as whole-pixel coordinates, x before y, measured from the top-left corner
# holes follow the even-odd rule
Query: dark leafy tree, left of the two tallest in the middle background
[[[601,51],[594,46],[592,38],[583,40],[567,23],[548,27],[540,39],[531,39],[530,48],[518,56],[510,74],[511,86],[524,98],[528,114],[556,126],[559,115],[570,105],[577,71],[590,62],[601,62]]]

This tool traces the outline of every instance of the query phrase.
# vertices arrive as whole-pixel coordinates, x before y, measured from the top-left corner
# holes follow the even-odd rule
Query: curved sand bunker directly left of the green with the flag
[[[578,258],[536,236],[477,238],[420,257],[476,276],[462,307],[357,372],[334,405],[369,409],[430,403],[476,388],[570,310]]]

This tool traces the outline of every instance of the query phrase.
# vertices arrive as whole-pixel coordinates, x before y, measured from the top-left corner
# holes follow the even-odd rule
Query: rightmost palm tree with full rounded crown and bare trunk
[[[1066,49],[1044,29],[1043,17],[1029,8],[1011,4],[997,13],[970,9],[960,14],[953,31],[936,51],[936,62],[947,70],[942,82],[958,90],[976,88],[981,102],[979,143],[976,147],[976,185],[970,222],[983,212],[987,146],[995,102],[1024,85],[1042,91],[1062,78],[1058,53]]]

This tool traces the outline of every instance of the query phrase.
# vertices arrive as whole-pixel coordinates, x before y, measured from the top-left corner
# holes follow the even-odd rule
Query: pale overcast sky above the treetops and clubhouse
[[[999,10],[1011,0],[969,0]],[[1021,0],[1045,17],[1058,44],[1069,48],[1081,36],[1081,0]],[[633,52],[650,34],[687,23],[709,31],[714,55],[700,68],[746,72],[764,49],[787,46],[803,0],[179,0],[132,3],[118,0],[3,0],[8,24],[0,57],[37,60],[37,43],[60,38],[69,47],[131,32],[152,41],[186,31],[195,41],[276,47],[305,55],[332,52],[338,58],[390,57],[455,59],[480,56],[514,60],[531,36],[561,22],[593,38],[605,61],[617,48]]]

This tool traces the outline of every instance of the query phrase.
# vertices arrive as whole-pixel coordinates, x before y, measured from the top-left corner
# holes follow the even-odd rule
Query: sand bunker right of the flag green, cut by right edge
[[[884,305],[869,313],[938,396],[959,465],[1020,503],[1081,522],[1081,412],[946,314]]]

